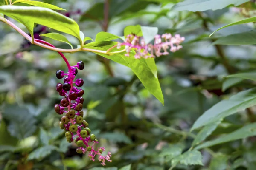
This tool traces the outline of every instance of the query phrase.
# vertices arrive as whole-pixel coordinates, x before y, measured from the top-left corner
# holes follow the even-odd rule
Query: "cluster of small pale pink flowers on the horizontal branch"
[[[121,48],[122,45],[125,45],[126,54],[125,56],[129,57],[132,49],[136,52],[134,57],[136,59],[143,58],[153,58],[160,57],[162,55],[168,55],[167,51],[169,48],[171,52],[175,52],[180,50],[182,46],[181,42],[185,40],[184,37],[180,37],[180,34],[176,34],[172,36],[172,34],[166,33],[163,35],[156,35],[154,37],[154,44],[146,44],[143,37],[136,36],[133,34],[129,34],[125,42],[118,43],[117,49]]]

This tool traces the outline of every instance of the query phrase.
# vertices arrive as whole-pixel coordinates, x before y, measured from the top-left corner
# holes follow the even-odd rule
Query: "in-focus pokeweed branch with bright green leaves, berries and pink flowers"
[[[63,96],[63,99],[61,99],[60,104],[56,104],[54,106],[56,113],[58,113],[59,115],[64,115],[59,122],[59,126],[61,129],[65,130],[67,142],[75,142],[77,145],[76,152],[83,154],[88,153],[88,157],[92,161],[95,161],[95,156],[98,156],[97,159],[101,162],[103,166],[106,165],[106,161],[112,162],[110,152],[108,152],[107,155],[102,156],[105,148],[99,147],[97,149],[94,147],[95,144],[99,141],[96,139],[96,136],[91,133],[89,124],[86,122],[86,120],[83,120],[84,113],[82,109],[84,102],[84,90],[81,89],[81,87],[84,85],[84,81],[81,78],[76,78],[76,75],[78,74],[78,70],[84,69],[84,62],[80,61],[77,62],[76,65],[71,66],[62,52],[75,53],[79,51],[89,51],[102,55],[103,57],[107,56],[108,59],[113,59],[113,61],[120,60],[121,58],[118,57],[122,57],[122,59],[127,62],[125,57],[130,57],[134,59],[148,59],[168,55],[170,52],[176,52],[182,48],[182,45],[180,44],[185,40],[185,38],[180,37],[180,34],[155,34],[149,36],[150,40],[148,40],[147,37],[146,42],[143,38],[143,28],[137,25],[128,26],[125,29],[124,42],[110,41],[120,37],[106,32],[101,32],[97,34],[96,42],[85,44],[87,40],[91,39],[88,37],[84,37],[84,34],[79,30],[79,26],[77,25],[77,23],[73,19],[70,19],[63,14],[52,10],[62,10],[62,8],[48,3],[31,0],[17,0],[14,2],[10,0],[9,4],[7,1],[5,1],[5,3],[6,5],[0,6],[0,13],[2,13],[0,16],[0,21],[15,29],[31,44],[38,45],[42,48],[46,48],[52,51],[57,51],[67,65],[67,73],[61,70],[56,71],[56,77],[58,79],[63,79],[62,83],[59,82],[56,85],[56,91],[59,93],[60,96]],[[26,3],[32,6],[15,6],[16,3]],[[4,15],[24,24],[29,30],[30,36],[18,26],[16,26],[14,23],[12,23],[10,20],[6,19]],[[80,45],[78,45],[76,49],[73,49],[73,46],[62,34],[42,34],[42,36],[66,42],[71,45],[72,49],[56,48],[49,42],[34,37],[33,29],[35,24],[41,24],[57,31],[71,34],[79,40]],[[147,29],[150,30],[150,28]],[[153,29],[155,30],[155,28]],[[153,44],[149,43],[149,41],[151,41],[152,39],[154,39]],[[106,50],[99,50],[102,48]],[[116,57],[115,54],[121,55]],[[137,65],[143,65],[143,62],[144,60],[141,62],[139,61]],[[127,64],[129,65],[129,63]],[[151,65],[154,66],[153,60],[151,60]],[[152,73],[154,73],[154,71],[152,71]],[[150,87],[149,84],[155,83],[151,82],[151,79],[146,79],[146,77],[143,77],[143,74],[140,74],[140,70],[136,71],[135,74],[139,77],[139,79],[141,79],[143,84],[145,83],[145,88],[148,88],[149,90],[151,90],[151,88],[154,88]],[[158,82],[157,75],[154,75],[154,77],[155,79],[153,79],[153,81]],[[157,86],[157,88],[160,88],[159,83],[157,84]],[[158,89],[158,91],[161,91],[161,89]],[[163,103],[162,93],[152,94],[155,95],[160,100],[160,102]]]

